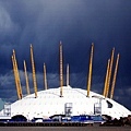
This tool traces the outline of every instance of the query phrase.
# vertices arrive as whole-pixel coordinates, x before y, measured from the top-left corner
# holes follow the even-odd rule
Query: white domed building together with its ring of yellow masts
[[[109,83],[110,83],[110,72],[112,67],[114,59],[114,49],[111,53],[110,63],[108,60],[107,74],[105,81],[104,94],[97,94],[91,92],[91,81],[92,81],[92,62],[93,62],[93,48],[91,51],[90,59],[90,71],[88,71],[88,82],[87,90],[82,90],[79,87],[71,87],[69,84],[69,67],[67,68],[67,86],[63,86],[63,76],[62,76],[62,46],[60,44],[60,87],[47,88],[46,80],[46,69],[44,68],[45,76],[45,91],[37,92],[37,84],[35,78],[35,64],[33,59],[33,47],[31,46],[31,58],[32,58],[32,69],[33,69],[33,82],[34,82],[34,94],[29,94],[27,87],[27,96],[23,97],[21,90],[21,82],[19,78],[17,63],[15,59],[15,52],[13,51],[12,61],[14,78],[16,83],[16,91],[19,100],[7,106],[0,116],[24,116],[27,120],[33,118],[49,118],[53,115],[66,115],[66,116],[78,116],[78,115],[106,115],[111,118],[119,119],[120,117],[128,117],[131,115],[131,111],[128,110],[122,105],[118,104],[112,99],[115,81],[118,68],[118,59],[116,62],[115,75],[114,75],[114,86],[111,87],[111,96],[108,98]],[[26,68],[25,68],[26,74]],[[27,75],[26,83],[27,82]]]

